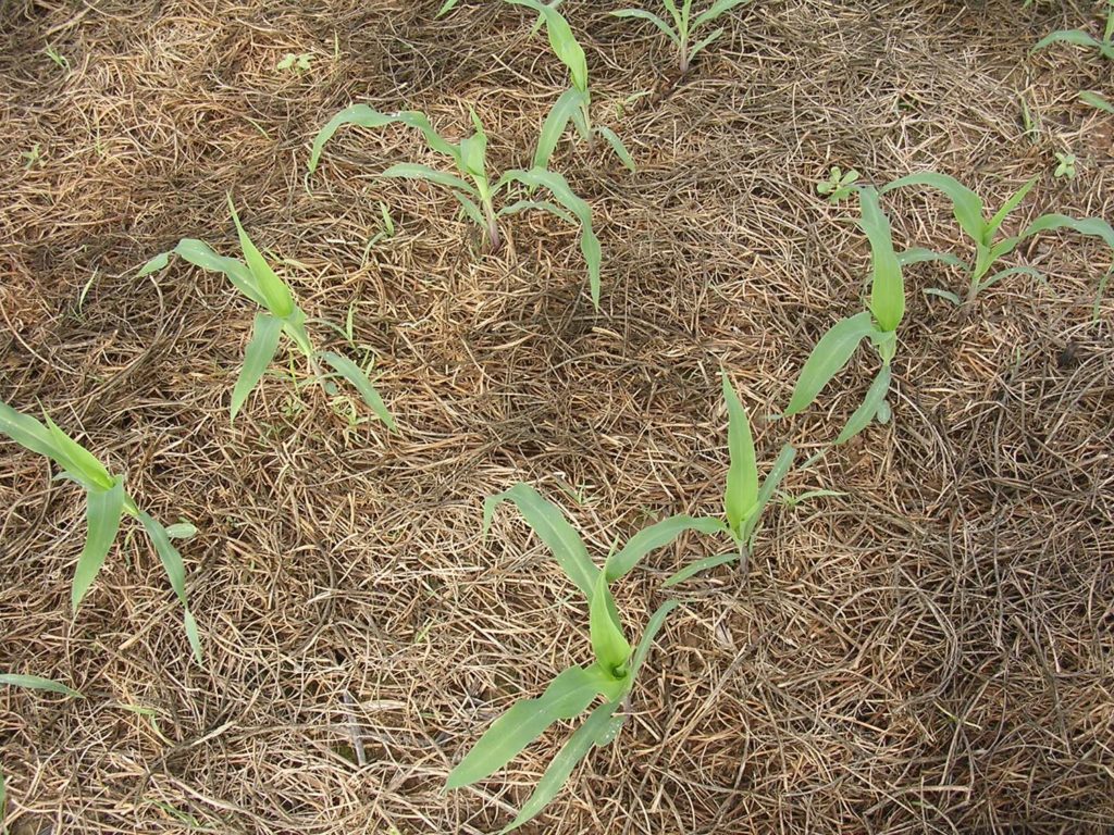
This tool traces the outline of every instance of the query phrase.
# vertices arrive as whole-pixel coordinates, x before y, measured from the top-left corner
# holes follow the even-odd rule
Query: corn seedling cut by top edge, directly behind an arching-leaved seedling
[[[549,159],[553,157],[557,144],[560,141],[565,129],[571,121],[585,141],[592,143],[595,136],[602,136],[615,151],[615,156],[634,170],[634,159],[623,145],[623,140],[610,128],[592,125],[592,92],[588,89],[588,65],[584,57],[584,49],[573,35],[573,29],[568,21],[557,11],[554,6],[546,6],[539,0],[506,0],[514,6],[525,6],[538,12],[540,19],[545,21],[546,35],[549,37],[549,46],[556,56],[568,68],[571,87],[561,94],[554,105],[545,122],[541,125],[541,135],[538,137],[538,147],[534,153],[534,167],[548,168]]]

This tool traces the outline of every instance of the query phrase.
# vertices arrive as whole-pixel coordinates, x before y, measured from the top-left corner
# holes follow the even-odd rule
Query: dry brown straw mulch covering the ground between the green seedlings
[[[529,164],[563,68],[525,10],[438,6],[0,4],[0,399],[41,405],[157,517],[199,528],[183,553],[206,647],[192,662],[127,528],[72,616],[80,497],[0,443],[0,670],[87,696],[0,692],[11,832],[497,829],[567,727],[476,789],[442,794],[446,775],[588,649],[584,606],[516,515],[481,539],[483,497],[535,483],[597,559],[648,521],[717,512],[721,366],[774,413],[858,310],[857,209],[813,191],[830,165],[877,184],[936,168],[991,205],[1040,175],[1012,230],[1111,218],[1114,117],[1076,97],[1114,98],[1110,62],[1027,56],[1096,26],[1093,7],[755,0],[676,79],[652,27],[566,0],[596,119],[638,163],[570,141],[554,161],[595,213],[597,313],[560,222],[520,216],[492,254],[448,194],[377,178],[443,165],[404,128],[339,134],[306,178],[309,141],[352,101],[453,138],[473,107],[494,165]],[[310,69],[277,69],[287,52]],[[234,254],[227,190],[310,315],[353,312],[398,434],[350,426],[317,389],[292,397],[284,363],[229,426],[251,306],[182,263],[136,277],[185,236]],[[380,204],[395,232],[365,253]],[[900,247],[969,255],[939,196],[887,208]],[[1114,305],[1093,310],[1110,253],[1065,234],[1012,257],[1047,285],[1015,275],[967,312],[921,292],[960,289],[955,271],[908,271],[891,424],[790,475],[790,493],[841,494],[773,507],[745,573],[675,591],[622,737],[526,832],[1111,831]],[[872,372],[863,353],[805,415],[758,420],[761,465],[834,436]],[[725,544],[655,553],[618,588],[629,622]]]

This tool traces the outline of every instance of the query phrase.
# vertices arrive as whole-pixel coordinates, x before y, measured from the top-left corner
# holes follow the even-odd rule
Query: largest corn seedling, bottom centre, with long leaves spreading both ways
[[[459,788],[485,779],[518,756],[550,725],[561,719],[575,719],[590,708],[587,719],[550,762],[534,793],[515,819],[502,829],[504,833],[518,828],[537,815],[557,795],[577,763],[594,746],[606,745],[615,738],[625,718],[615,714],[628,700],[654,637],[666,616],[676,607],[673,600],[661,606],[649,618],[637,649],[632,651],[610,584],[632,571],[643,557],[670,544],[684,531],[714,533],[723,528],[717,519],[670,517],[636,533],[623,549],[613,550],[604,567],[598,568],[561,511],[529,484],[516,484],[485,501],[485,536],[496,508],[506,501],[518,508],[527,524],[549,548],[557,564],[587,600],[587,632],[595,661],[564,670],[540,697],[515,703],[492,723],[449,774],[447,788]],[[603,704],[593,707],[598,697],[603,697]]]

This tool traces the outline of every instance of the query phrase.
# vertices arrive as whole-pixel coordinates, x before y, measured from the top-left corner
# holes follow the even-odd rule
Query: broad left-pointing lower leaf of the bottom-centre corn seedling
[[[573,719],[600,692],[615,691],[615,684],[597,665],[569,667],[536,699],[511,705],[480,737],[446,780],[446,788],[468,786],[502,768],[559,719]]]

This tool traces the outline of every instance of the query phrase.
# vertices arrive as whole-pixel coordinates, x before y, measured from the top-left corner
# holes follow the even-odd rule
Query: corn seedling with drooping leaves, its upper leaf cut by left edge
[[[101,566],[105,564],[105,558],[119,531],[120,520],[127,514],[143,525],[163,562],[163,568],[170,579],[170,587],[185,611],[186,637],[199,664],[201,639],[197,635],[197,622],[186,600],[186,569],[182,562],[182,554],[170,542],[170,531],[149,513],[140,510],[135,500],[125,492],[124,477],[111,474],[91,452],[62,432],[49,416],[43,425],[2,401],[0,401],[0,433],[8,435],[23,449],[45,455],[58,464],[62,471],[56,478],[72,481],[85,488],[88,531],[74,574],[70,593],[74,611],[77,611]],[[178,532],[182,532],[180,528]]]

